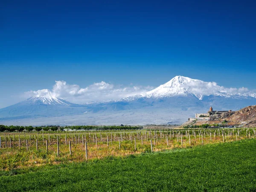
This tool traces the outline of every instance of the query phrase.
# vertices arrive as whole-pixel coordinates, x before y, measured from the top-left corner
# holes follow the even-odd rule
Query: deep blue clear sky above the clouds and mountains
[[[4,1],[0,108],[55,80],[256,89],[256,1]]]

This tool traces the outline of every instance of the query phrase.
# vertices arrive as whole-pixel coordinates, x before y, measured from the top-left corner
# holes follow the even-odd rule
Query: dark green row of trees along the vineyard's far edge
[[[143,126],[129,126],[129,125],[120,125],[120,126],[94,126],[94,125],[76,125],[76,126],[19,126],[19,125],[0,125],[0,132],[14,132],[14,131],[64,131],[64,130],[137,130],[143,129]]]

